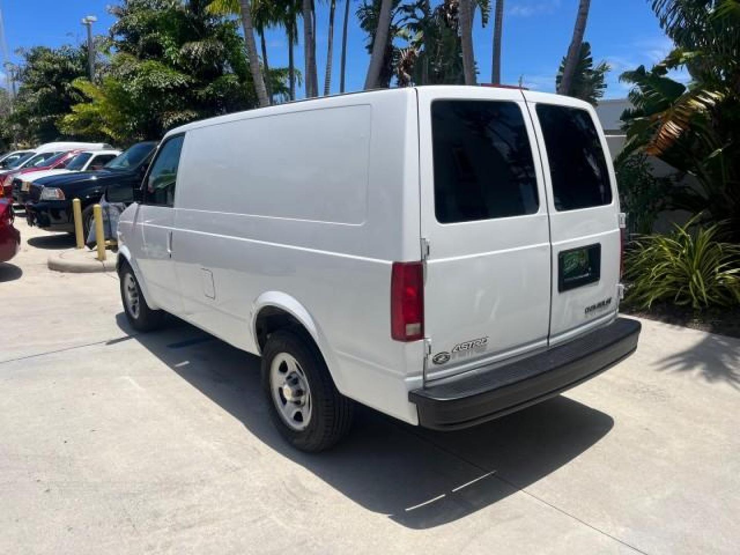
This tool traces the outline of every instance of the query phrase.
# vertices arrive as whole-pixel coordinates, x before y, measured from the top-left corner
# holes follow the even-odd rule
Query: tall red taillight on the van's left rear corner
[[[421,262],[394,262],[391,270],[391,337],[424,337],[424,267]]]

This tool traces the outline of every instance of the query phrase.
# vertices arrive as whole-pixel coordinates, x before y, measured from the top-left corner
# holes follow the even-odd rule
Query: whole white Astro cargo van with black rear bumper
[[[169,132],[121,216],[135,329],[164,312],[262,356],[297,448],[354,402],[452,430],[628,357],[621,228],[588,104],[478,87],[301,101]]]

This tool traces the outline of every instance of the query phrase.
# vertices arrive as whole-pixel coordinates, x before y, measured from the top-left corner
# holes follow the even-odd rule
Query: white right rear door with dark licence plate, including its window
[[[621,230],[609,149],[581,101],[524,92],[542,150],[552,240],[550,344],[616,317]]]

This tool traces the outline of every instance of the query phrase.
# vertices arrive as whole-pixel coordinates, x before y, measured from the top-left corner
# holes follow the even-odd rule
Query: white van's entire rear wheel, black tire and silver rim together
[[[262,382],[270,416],[295,448],[324,451],[349,431],[351,400],[337,391],[320,352],[300,334],[280,330],[269,337]]]

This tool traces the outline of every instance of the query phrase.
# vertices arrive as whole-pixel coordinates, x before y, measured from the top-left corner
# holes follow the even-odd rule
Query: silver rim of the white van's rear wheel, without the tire
[[[272,359],[270,390],[283,422],[295,431],[305,430],[311,422],[311,388],[292,354],[278,353]]]

